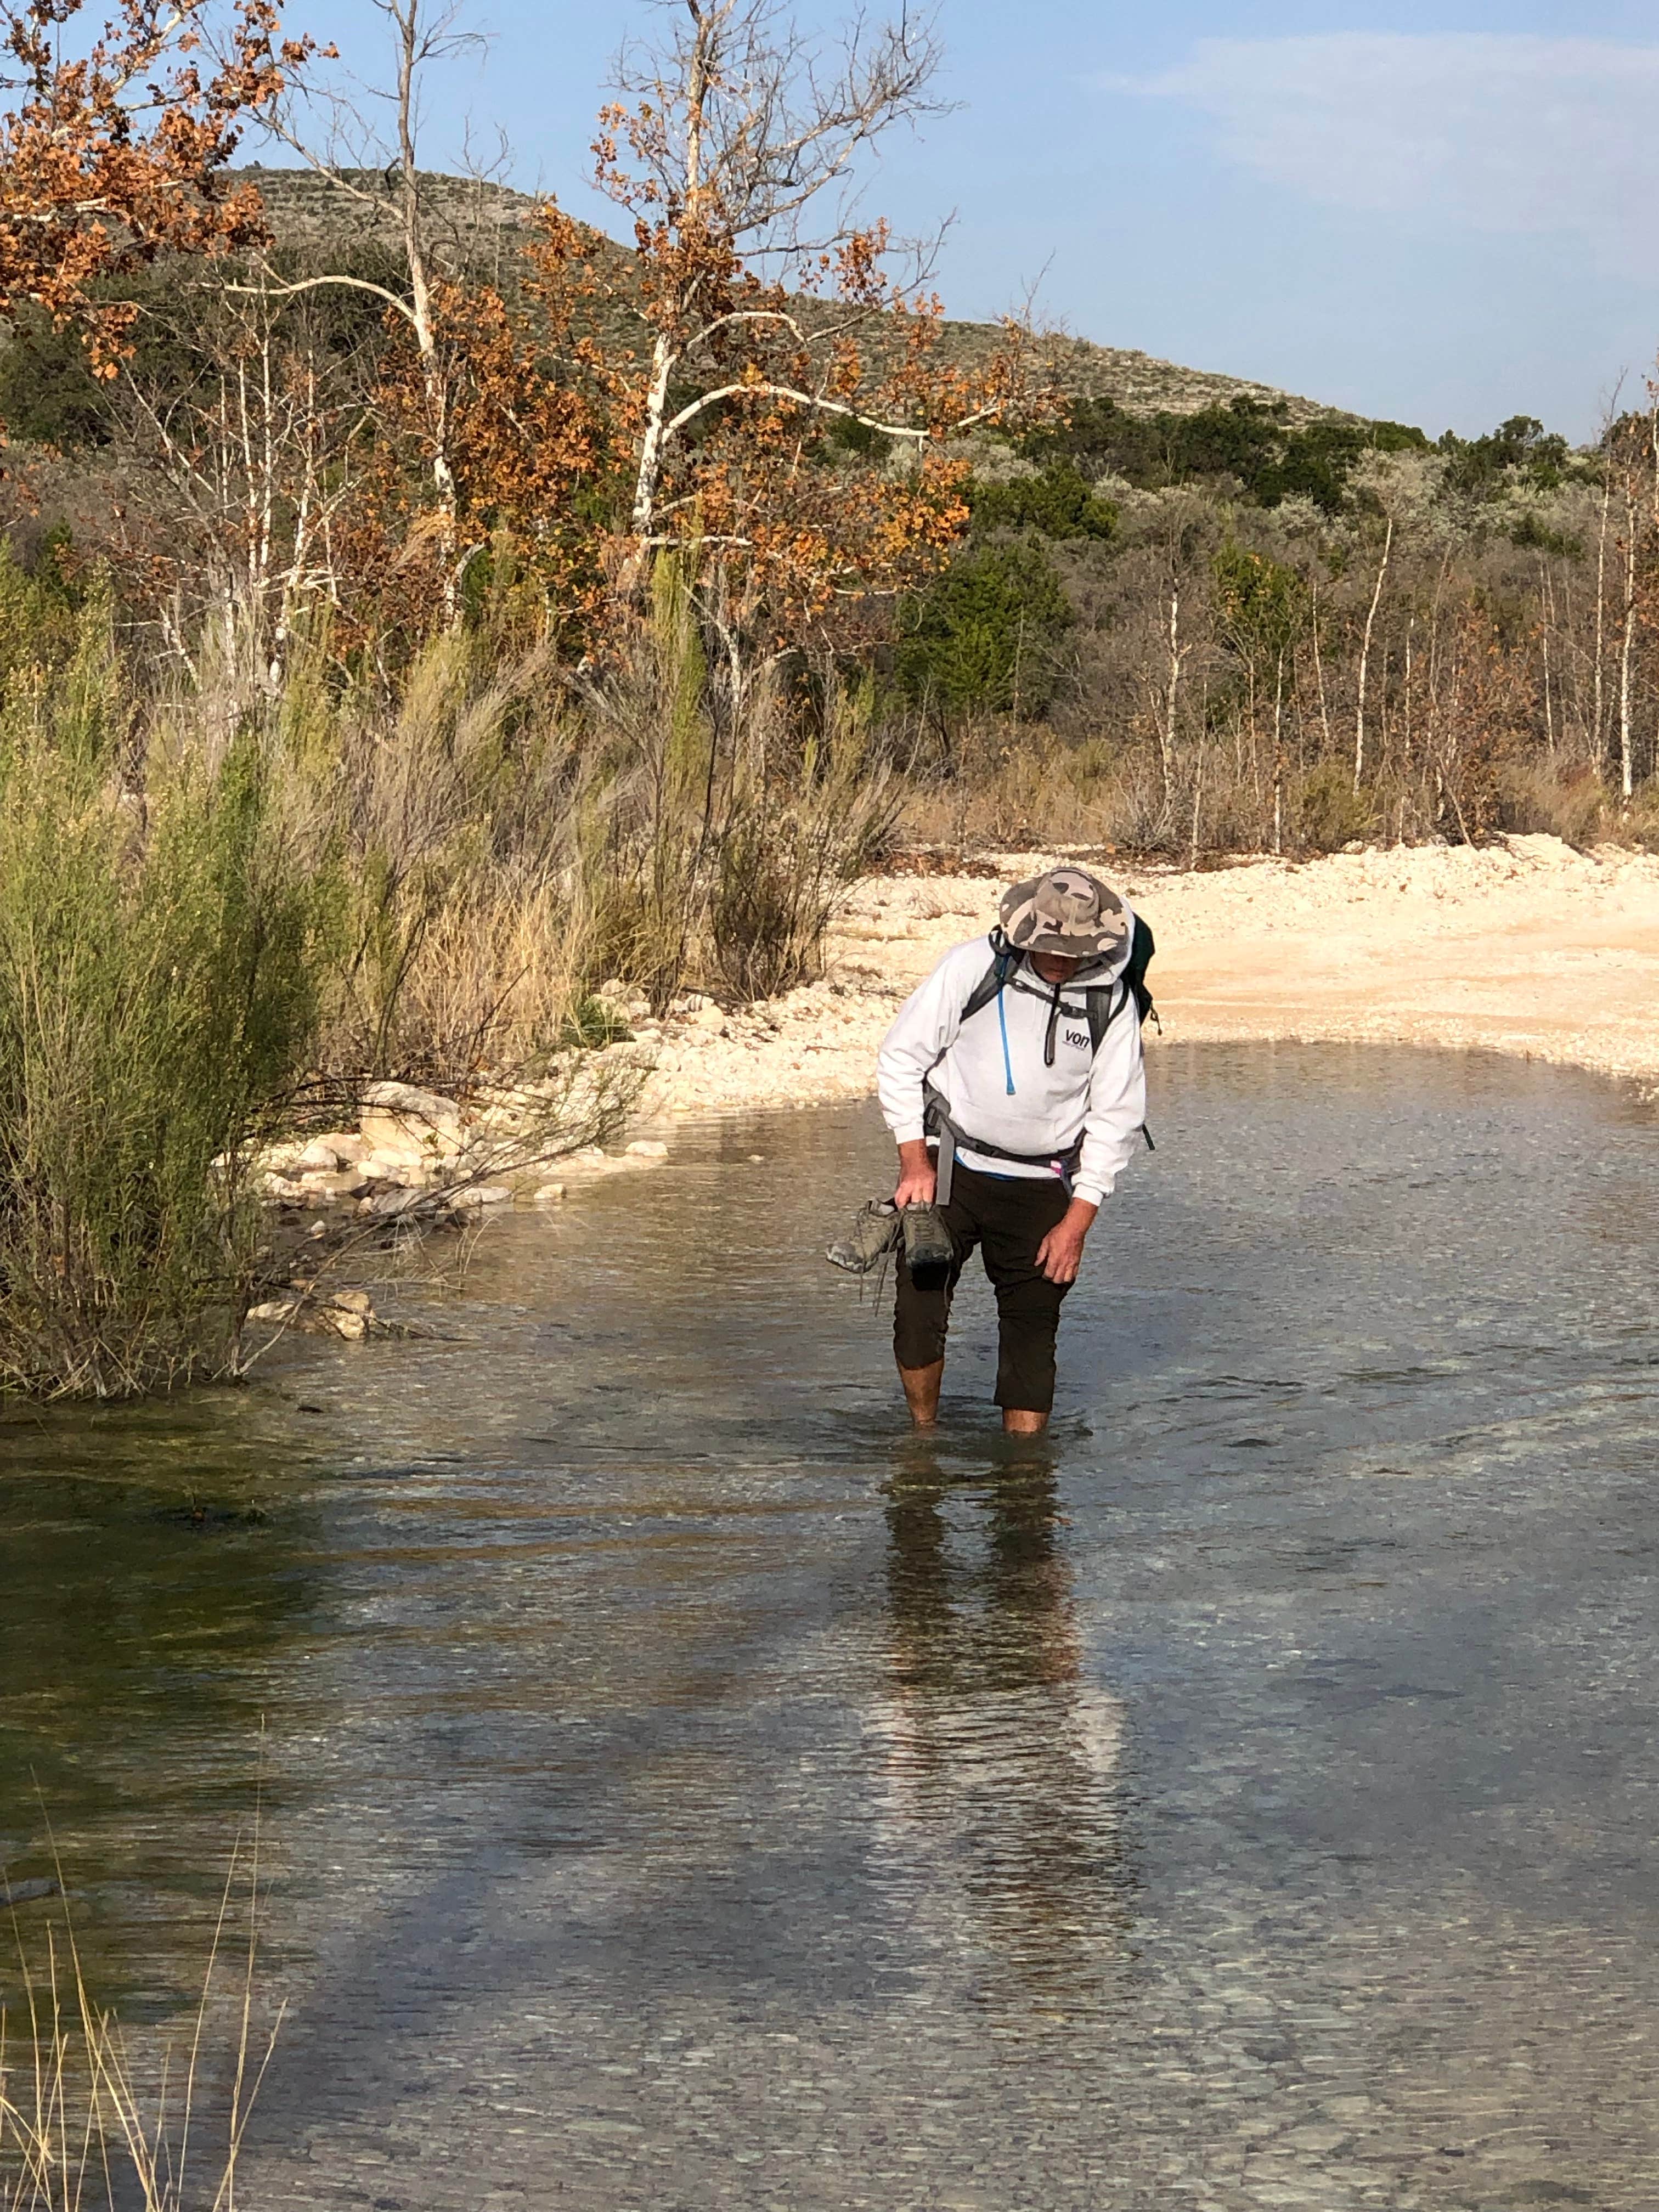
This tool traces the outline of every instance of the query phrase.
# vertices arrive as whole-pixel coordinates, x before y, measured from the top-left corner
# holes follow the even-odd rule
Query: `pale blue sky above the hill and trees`
[[[807,22],[832,24],[827,0]],[[987,316],[1040,279],[1051,321],[1360,414],[1590,436],[1659,345],[1659,9],[1601,0],[942,0],[956,111],[889,142],[865,204],[953,217],[940,290]],[[367,0],[292,24],[378,71]],[[586,142],[650,4],[478,0],[489,33],[429,91],[425,155],[467,128],[507,175],[611,221]]]

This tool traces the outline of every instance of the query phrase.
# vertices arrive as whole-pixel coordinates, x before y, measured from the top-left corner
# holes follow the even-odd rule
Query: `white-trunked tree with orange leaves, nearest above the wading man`
[[[931,106],[929,22],[858,22],[830,64],[781,0],[684,11],[664,46],[624,53],[595,142],[635,219],[648,332],[617,577],[637,595],[653,555],[686,555],[737,670],[945,557],[967,522],[947,440],[1006,414],[1022,363],[1011,343],[949,365],[922,270],[896,281],[885,226],[843,197],[856,157]]]

